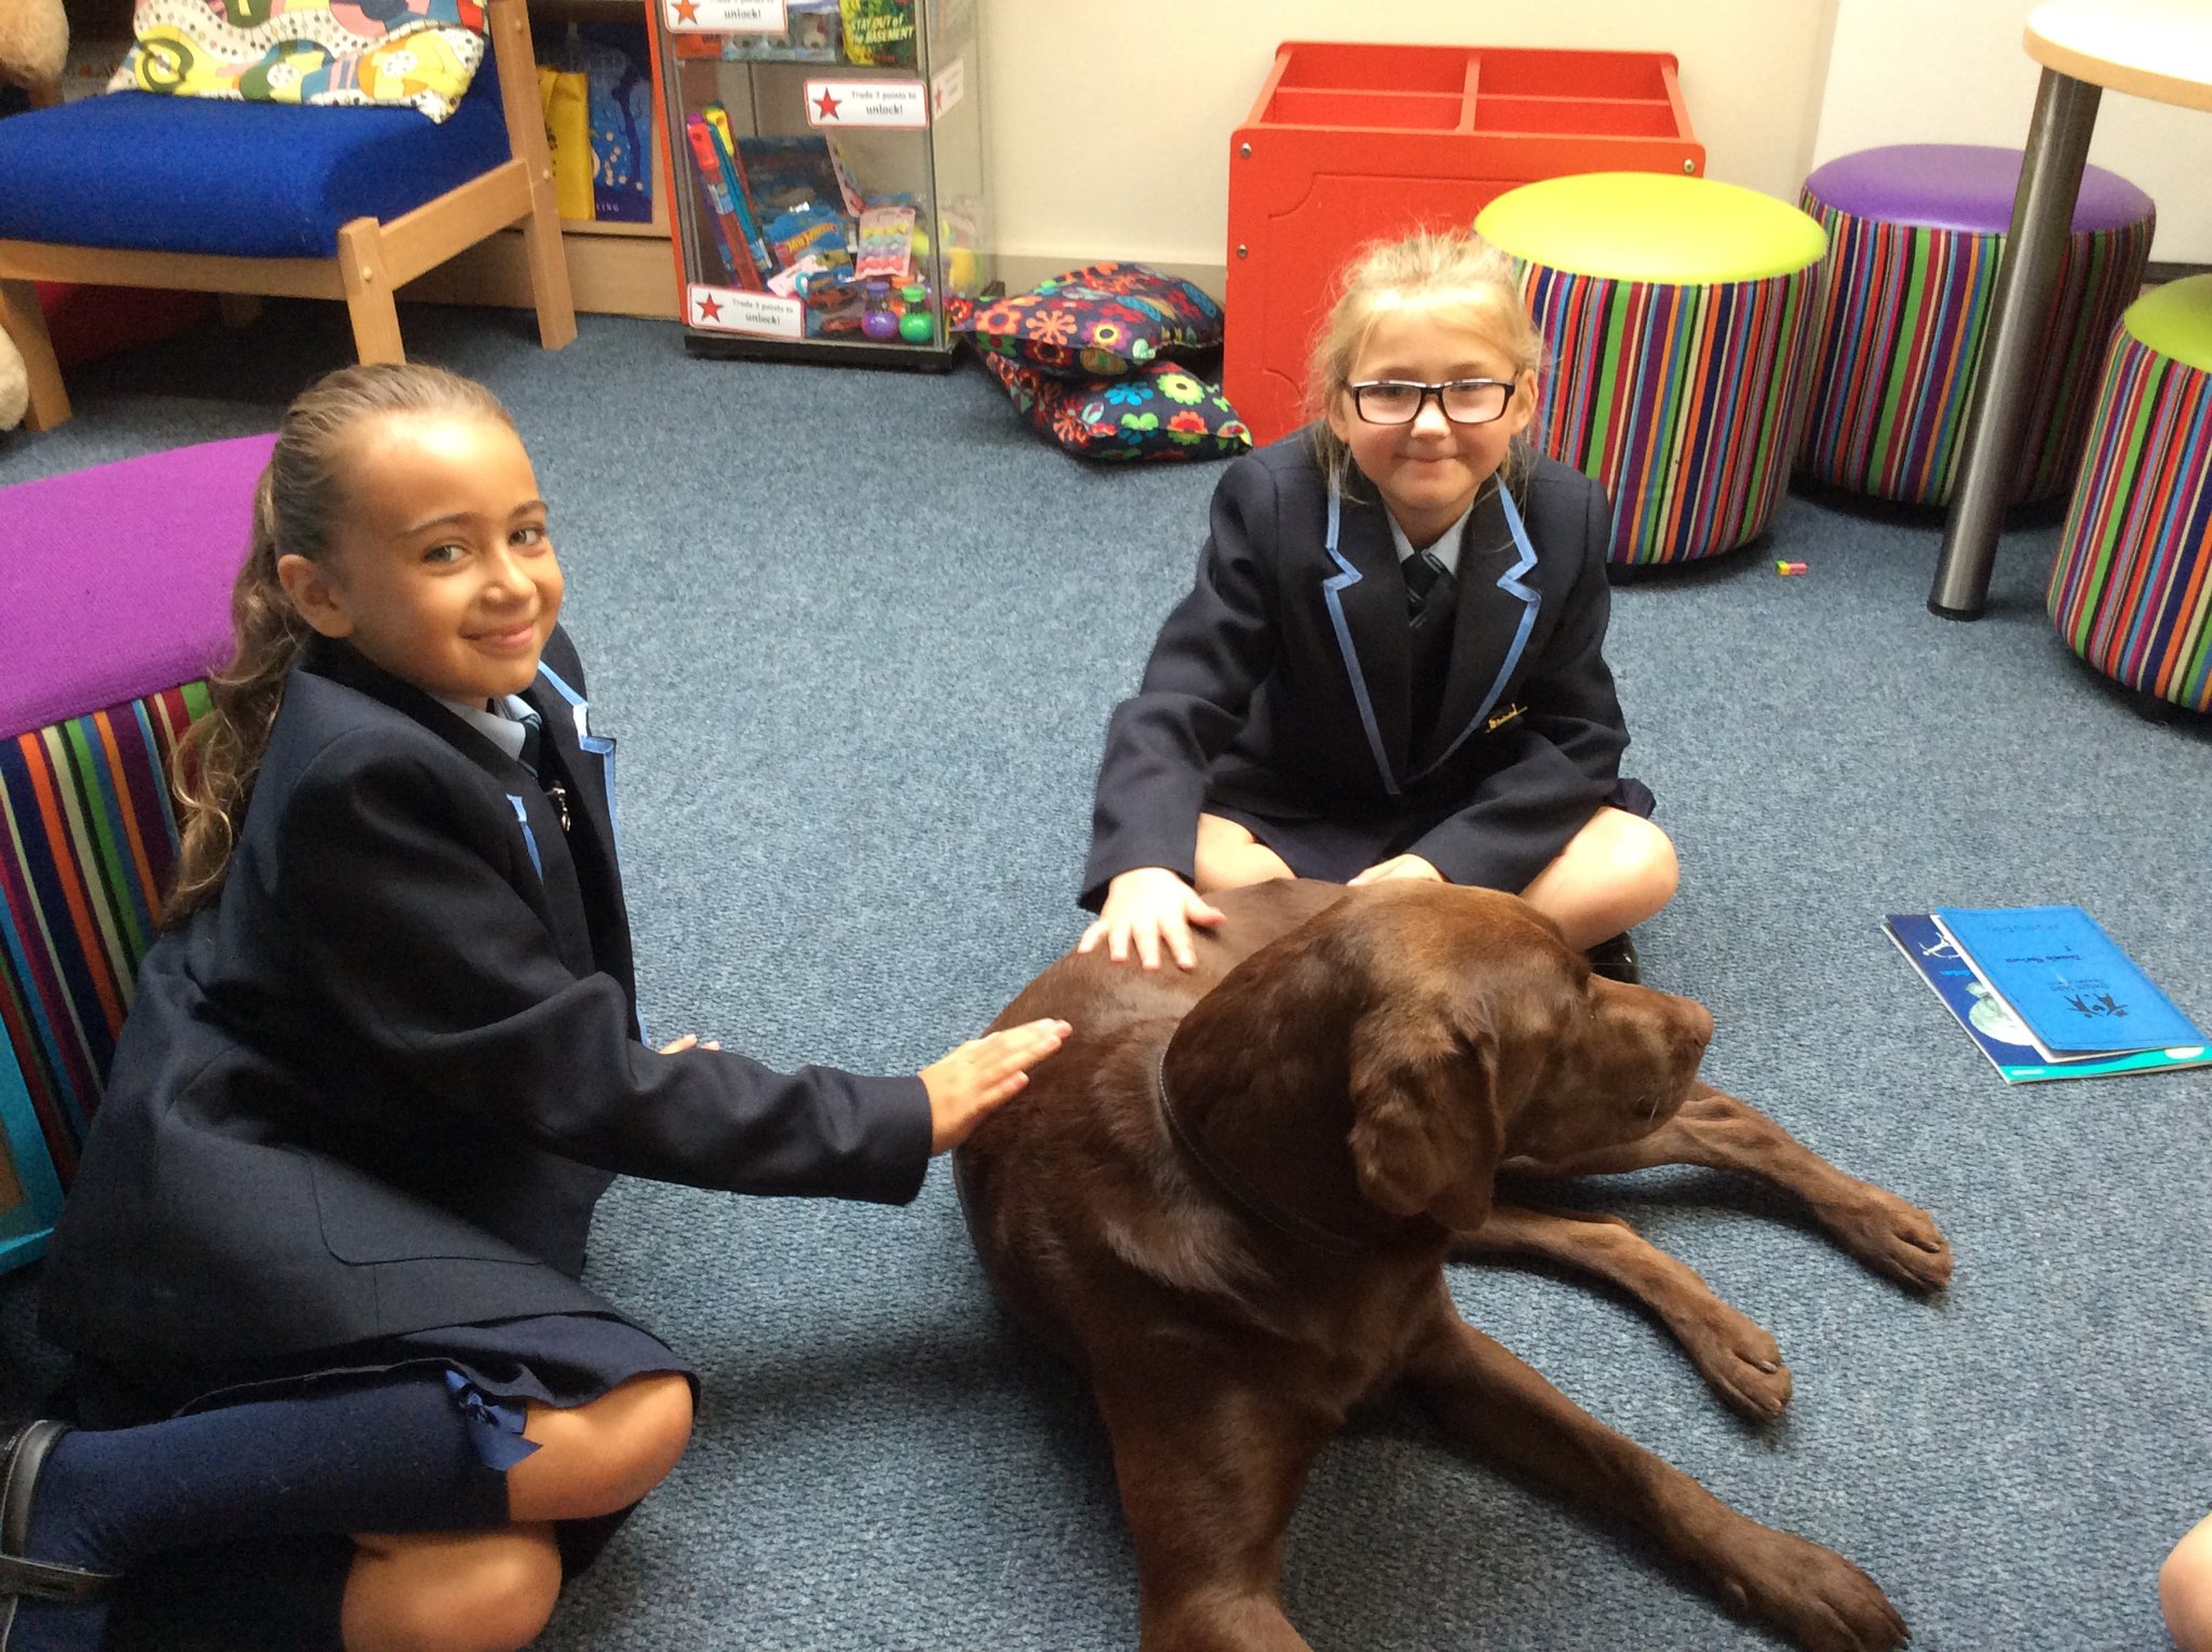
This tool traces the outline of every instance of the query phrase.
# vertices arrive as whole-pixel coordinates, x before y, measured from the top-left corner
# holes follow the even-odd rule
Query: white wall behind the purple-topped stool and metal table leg
[[[1836,0],[1814,164],[1876,144],[2026,144],[2042,75],[2020,44],[2033,9],[2035,0]],[[2212,115],[2108,91],[2088,157],[2159,203],[2152,259],[2212,263]]]

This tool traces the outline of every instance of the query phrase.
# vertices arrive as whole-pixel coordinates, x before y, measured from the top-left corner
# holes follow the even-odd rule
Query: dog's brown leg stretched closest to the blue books
[[[1951,1243],[1933,1216],[1871,1181],[1845,1174],[1765,1112],[1710,1084],[1699,1084],[1681,1110],[1648,1137],[1562,1161],[1515,1159],[1504,1168],[1540,1177],[1604,1177],[1652,1165],[1705,1165],[1761,1177],[1803,1199],[1836,1243],[1874,1272],[1920,1292],[1938,1289],[1951,1278]]]

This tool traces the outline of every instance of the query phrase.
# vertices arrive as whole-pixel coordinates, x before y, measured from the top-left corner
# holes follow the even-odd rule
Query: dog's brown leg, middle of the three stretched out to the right
[[[1482,1227],[1458,1236],[1453,1256],[1542,1256],[1597,1274],[1659,1316],[1732,1411],[1765,1420],[1790,1404],[1790,1367],[1774,1338],[1619,1216],[1491,1205]]]

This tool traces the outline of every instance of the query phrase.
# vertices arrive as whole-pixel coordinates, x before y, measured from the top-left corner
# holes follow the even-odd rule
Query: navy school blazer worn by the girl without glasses
[[[239,1371],[403,1331],[608,1311],[615,1172],[902,1203],[920,1079],[639,1042],[613,741],[553,632],[540,783],[312,639],[219,898],[139,971],[42,1325],[122,1371]],[[544,763],[542,763],[544,767]]]

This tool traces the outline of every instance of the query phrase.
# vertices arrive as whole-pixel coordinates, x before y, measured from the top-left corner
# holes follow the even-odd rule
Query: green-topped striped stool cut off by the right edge
[[[2212,712],[2212,274],[2121,316],[2046,606],[2106,677]]]

